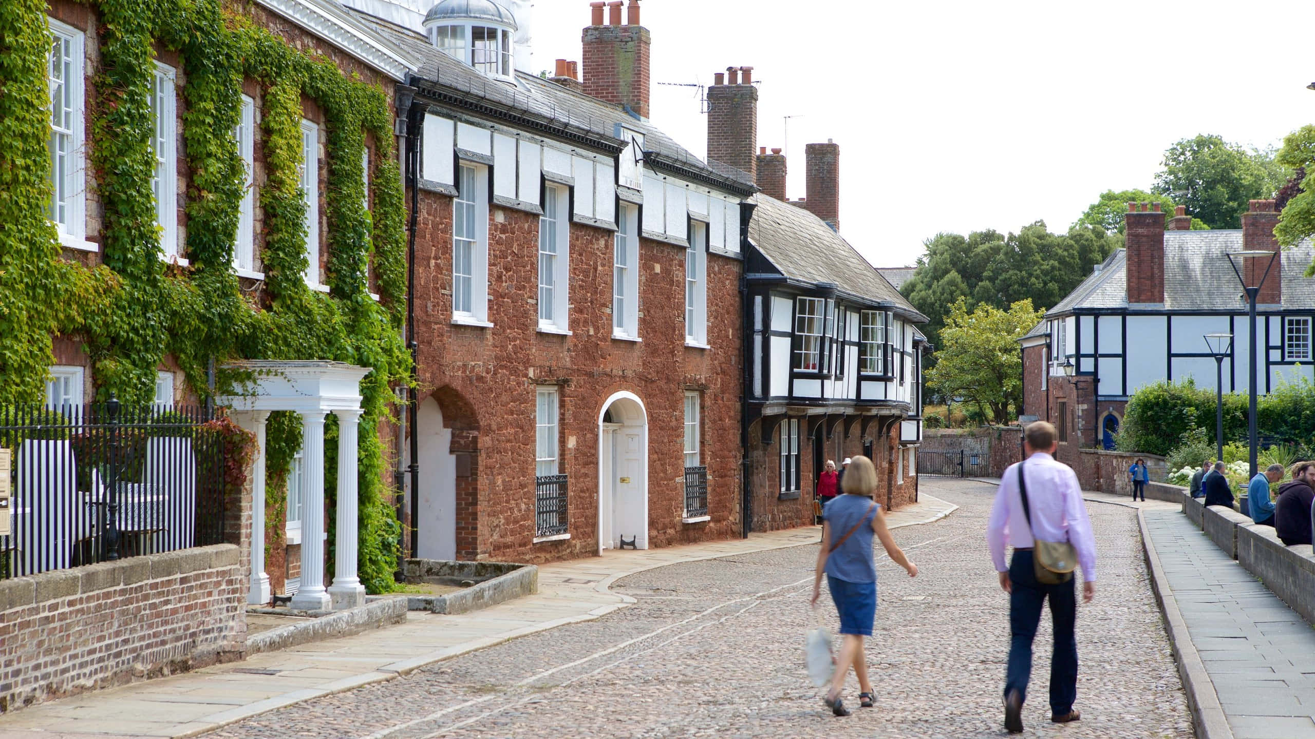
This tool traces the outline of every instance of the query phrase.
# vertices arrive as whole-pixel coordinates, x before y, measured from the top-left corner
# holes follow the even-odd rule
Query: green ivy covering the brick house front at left
[[[46,4],[0,5],[0,141],[12,153],[0,160],[0,402],[41,397],[55,334],[83,341],[101,398],[114,393],[128,402],[150,400],[166,355],[203,397],[212,362],[333,359],[371,367],[362,383],[360,579],[371,592],[393,589],[401,527],[384,483],[387,452],[373,431],[393,419],[392,387],[408,381],[410,356],[398,331],[405,206],[387,96],[225,11],[221,0],[84,1],[100,13],[101,63],[88,110],[89,164],[104,212],[105,263],[96,268],[62,260],[47,220]],[[150,149],[156,43],[179,54],[184,75],[188,267],[159,258]],[[245,78],[264,88],[266,289],[259,301],[243,296],[231,270],[243,164],[230,131]],[[302,280],[302,95],[325,112],[330,295]],[[367,137],[375,143],[373,213],[364,206],[362,181]],[[367,292],[371,263],[377,302]],[[267,443],[271,514],[284,505],[287,465],[300,446],[296,418],[275,417]]]

